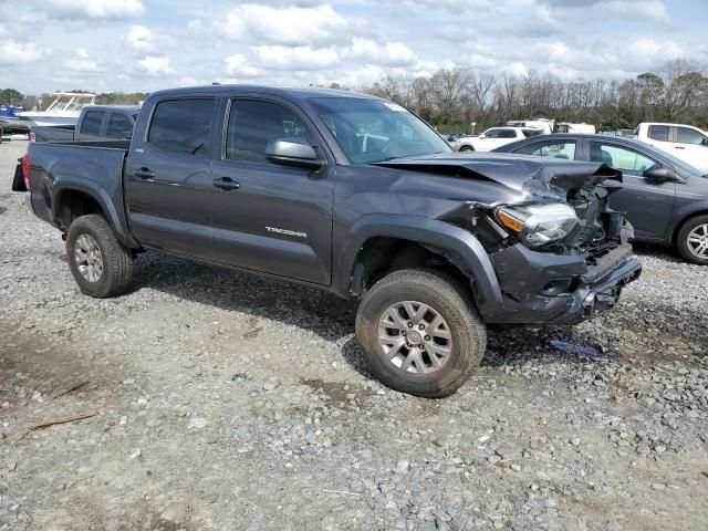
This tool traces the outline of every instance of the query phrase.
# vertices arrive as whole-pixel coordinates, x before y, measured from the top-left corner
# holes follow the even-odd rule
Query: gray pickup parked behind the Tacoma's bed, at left
[[[30,140],[131,139],[139,110],[137,105],[88,105],[81,111],[75,126],[35,126],[30,131]]]

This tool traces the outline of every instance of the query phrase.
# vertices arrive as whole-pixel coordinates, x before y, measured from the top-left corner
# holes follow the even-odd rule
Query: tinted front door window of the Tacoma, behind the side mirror
[[[282,105],[257,100],[231,102],[226,135],[226,158],[267,163],[268,143],[283,138],[312,144],[302,121]]]

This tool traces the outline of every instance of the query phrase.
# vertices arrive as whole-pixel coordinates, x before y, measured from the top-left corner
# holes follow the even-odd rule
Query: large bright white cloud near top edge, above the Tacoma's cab
[[[271,8],[246,3],[215,22],[223,38],[238,42],[316,45],[341,41],[347,23],[331,6]]]

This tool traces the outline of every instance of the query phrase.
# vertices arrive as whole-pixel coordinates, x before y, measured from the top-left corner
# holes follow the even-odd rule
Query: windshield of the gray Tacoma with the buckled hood
[[[425,122],[392,102],[314,97],[310,103],[355,164],[454,150]]]

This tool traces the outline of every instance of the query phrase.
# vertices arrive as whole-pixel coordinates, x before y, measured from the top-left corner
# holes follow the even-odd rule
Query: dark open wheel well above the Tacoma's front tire
[[[442,270],[462,283],[469,283],[465,273],[441,253],[416,241],[376,237],[367,240],[356,256],[350,290],[358,295],[386,274],[416,267]]]

